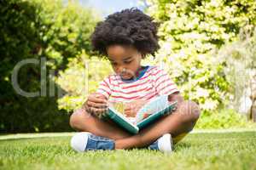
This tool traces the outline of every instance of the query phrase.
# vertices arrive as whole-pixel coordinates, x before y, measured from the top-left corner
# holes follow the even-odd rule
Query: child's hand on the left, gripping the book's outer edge
[[[94,93],[88,96],[83,107],[85,111],[92,113],[96,116],[102,115],[102,113],[108,111],[107,99],[102,94]]]

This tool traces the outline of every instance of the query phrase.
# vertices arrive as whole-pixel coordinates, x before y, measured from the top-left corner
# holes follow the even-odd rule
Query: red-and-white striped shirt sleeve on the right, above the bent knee
[[[159,95],[169,95],[179,92],[177,85],[172,81],[166,71],[160,68],[155,72],[155,90]]]

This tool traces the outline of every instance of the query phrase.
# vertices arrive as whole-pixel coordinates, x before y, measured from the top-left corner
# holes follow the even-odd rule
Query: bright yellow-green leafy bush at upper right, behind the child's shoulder
[[[160,22],[160,51],[156,63],[181,88],[186,99],[203,111],[213,111],[229,99],[230,84],[214,51],[233,42],[241,28],[256,24],[254,0],[148,0],[148,13]]]

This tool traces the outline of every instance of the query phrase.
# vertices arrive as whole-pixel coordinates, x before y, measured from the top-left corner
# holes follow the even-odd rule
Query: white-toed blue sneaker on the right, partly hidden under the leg
[[[166,133],[161,136],[159,139],[154,141],[153,144],[148,146],[149,150],[160,150],[164,153],[171,153],[173,150],[173,142],[172,135],[170,133]]]

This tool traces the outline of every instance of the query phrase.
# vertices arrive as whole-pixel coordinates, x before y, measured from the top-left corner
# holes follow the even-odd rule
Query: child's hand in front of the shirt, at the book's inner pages
[[[125,116],[135,117],[137,111],[139,111],[147,102],[148,101],[146,100],[136,100],[125,104]]]

